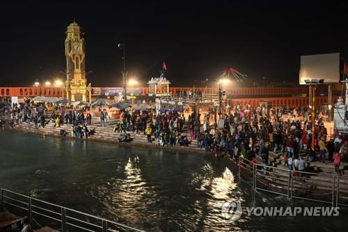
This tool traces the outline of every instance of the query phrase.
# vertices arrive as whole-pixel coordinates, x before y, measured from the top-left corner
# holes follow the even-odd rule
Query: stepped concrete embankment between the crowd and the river
[[[28,123],[20,123],[13,127],[13,130],[25,133],[33,133],[33,134],[42,134],[44,136],[54,136],[61,137],[61,130],[65,130],[68,134],[64,139],[76,139],[71,136],[72,126],[71,125],[62,125],[61,127],[54,127],[54,123],[49,123],[45,127],[38,127],[37,129],[33,127],[32,124]],[[97,126],[89,126],[89,129],[94,129],[95,134],[91,137],[88,137],[90,141],[102,141],[110,144],[120,144],[118,142],[118,137],[120,134],[118,132],[113,132],[112,127],[97,127]],[[8,129],[10,130],[10,129]],[[212,153],[205,152],[204,149],[197,148],[197,141],[193,140],[189,147],[183,147],[179,145],[175,145],[173,148],[167,148],[162,146],[156,146],[155,144],[148,144],[147,138],[143,134],[134,134],[130,133],[134,141],[129,144],[120,144],[121,146],[143,146],[148,149],[164,149],[171,151],[178,151],[181,153],[193,153],[200,155],[212,155]],[[281,164],[282,157],[275,153],[270,153],[269,162],[271,167],[268,168],[267,173],[263,173],[264,171],[258,172],[260,175],[258,176],[258,187],[262,187],[266,190],[273,190],[274,192],[282,192],[286,194],[289,189],[290,183],[288,182],[289,176],[288,170],[285,167],[282,167]],[[238,169],[237,163],[232,162],[228,157],[224,157],[223,160],[228,162],[231,167]],[[261,163],[260,157],[257,157],[257,162]],[[320,166],[321,165],[321,166]],[[320,166],[320,167],[319,167]],[[280,168],[280,169],[279,169]],[[316,198],[319,200],[328,201],[332,198],[333,194],[333,167],[332,165],[324,165],[324,164],[316,164],[312,163],[309,167],[313,174],[306,174],[306,183],[303,183],[298,178],[294,178],[294,181],[291,183],[292,193],[296,196],[317,196]],[[246,179],[251,180],[253,178],[252,171],[248,171],[245,173],[245,168],[241,169],[244,177]],[[308,170],[309,171],[309,170]],[[324,173],[328,176],[317,175],[317,173]],[[263,176],[266,174],[265,176]],[[244,179],[242,177],[242,179]],[[346,179],[340,180],[340,201],[348,202],[348,181]],[[335,187],[335,191],[338,191],[338,187]],[[318,196],[319,195],[319,196]],[[322,196],[320,196],[322,195]]]

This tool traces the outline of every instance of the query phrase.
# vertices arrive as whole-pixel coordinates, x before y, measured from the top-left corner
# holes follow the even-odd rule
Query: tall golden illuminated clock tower
[[[72,101],[90,102],[90,84],[87,85],[85,71],[85,44],[83,33],[76,22],[72,22],[66,31],[65,57],[67,79],[64,90]]]

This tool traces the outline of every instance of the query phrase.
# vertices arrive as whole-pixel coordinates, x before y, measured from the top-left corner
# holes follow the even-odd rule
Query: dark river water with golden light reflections
[[[226,201],[288,206],[253,192],[223,160],[155,148],[0,132],[0,187],[145,231],[342,231],[339,217],[221,217]],[[296,206],[319,206],[296,201]],[[324,205],[326,206],[326,205]]]

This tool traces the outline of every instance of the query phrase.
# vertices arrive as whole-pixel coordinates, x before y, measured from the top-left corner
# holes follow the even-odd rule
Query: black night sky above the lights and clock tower
[[[249,79],[298,82],[303,54],[348,54],[348,3],[333,1],[1,2],[0,85],[64,77],[65,29],[86,33],[93,86],[120,86],[127,70],[145,83],[161,62],[175,86],[214,80],[233,67]]]

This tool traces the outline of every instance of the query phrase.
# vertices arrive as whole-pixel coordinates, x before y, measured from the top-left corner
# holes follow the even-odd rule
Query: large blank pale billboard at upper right
[[[301,56],[300,84],[306,79],[324,79],[326,83],[340,82],[340,53]]]

